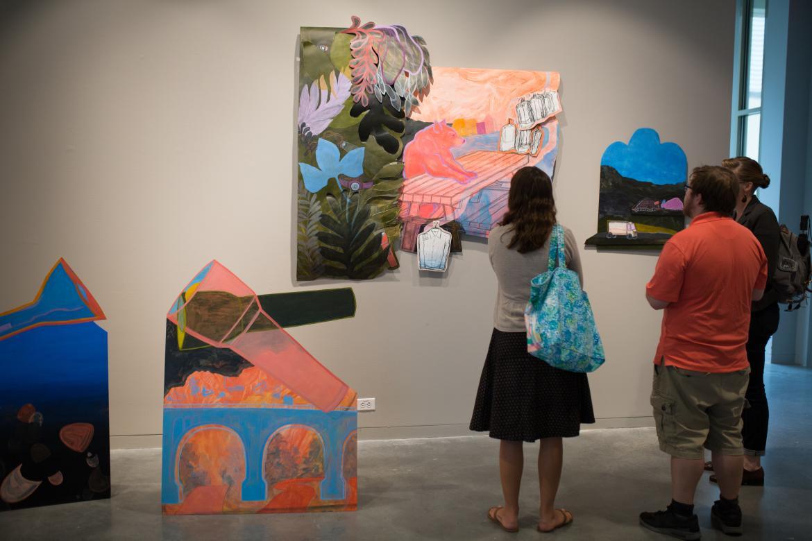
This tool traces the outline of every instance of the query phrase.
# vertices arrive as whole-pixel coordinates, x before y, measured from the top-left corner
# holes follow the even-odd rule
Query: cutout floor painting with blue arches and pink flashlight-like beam
[[[356,393],[284,329],[352,317],[350,288],[257,295],[217,261],[166,318],[165,514],[356,509]]]

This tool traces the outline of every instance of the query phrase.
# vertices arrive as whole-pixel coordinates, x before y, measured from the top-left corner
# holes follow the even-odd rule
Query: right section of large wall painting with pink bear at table
[[[400,220],[407,251],[434,220],[487,236],[507,212],[512,174],[533,165],[552,177],[558,152],[558,73],[433,70],[431,92],[405,121]]]

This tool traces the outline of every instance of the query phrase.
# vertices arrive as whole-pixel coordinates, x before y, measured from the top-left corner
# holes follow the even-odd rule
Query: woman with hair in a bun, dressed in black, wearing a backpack
[[[770,419],[764,389],[764,350],[767,341],[778,329],[780,311],[772,279],[778,264],[781,234],[775,213],[754,195],[756,189],[770,186],[770,177],[764,174],[758,161],[749,157],[735,157],[723,160],[722,165],[736,174],[741,187],[734,217],[754,234],[762,245],[764,255],[767,255],[767,289],[762,299],[751,307],[746,346],[750,380],[745,396],[750,407],[741,414],[741,436],[745,446],[745,471],[741,484],[761,486],[764,484],[761,457],[767,448],[767,424]],[[711,476],[711,481],[715,482],[715,476]]]

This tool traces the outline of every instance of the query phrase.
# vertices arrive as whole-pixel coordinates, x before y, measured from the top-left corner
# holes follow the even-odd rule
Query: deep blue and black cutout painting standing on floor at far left
[[[103,319],[61,259],[0,314],[0,510],[110,497]]]

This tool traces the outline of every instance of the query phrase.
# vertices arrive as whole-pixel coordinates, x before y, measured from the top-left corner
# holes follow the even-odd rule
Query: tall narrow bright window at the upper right
[[[758,161],[761,141],[764,24],[767,0],[736,2],[736,49],[733,67],[732,156]]]

